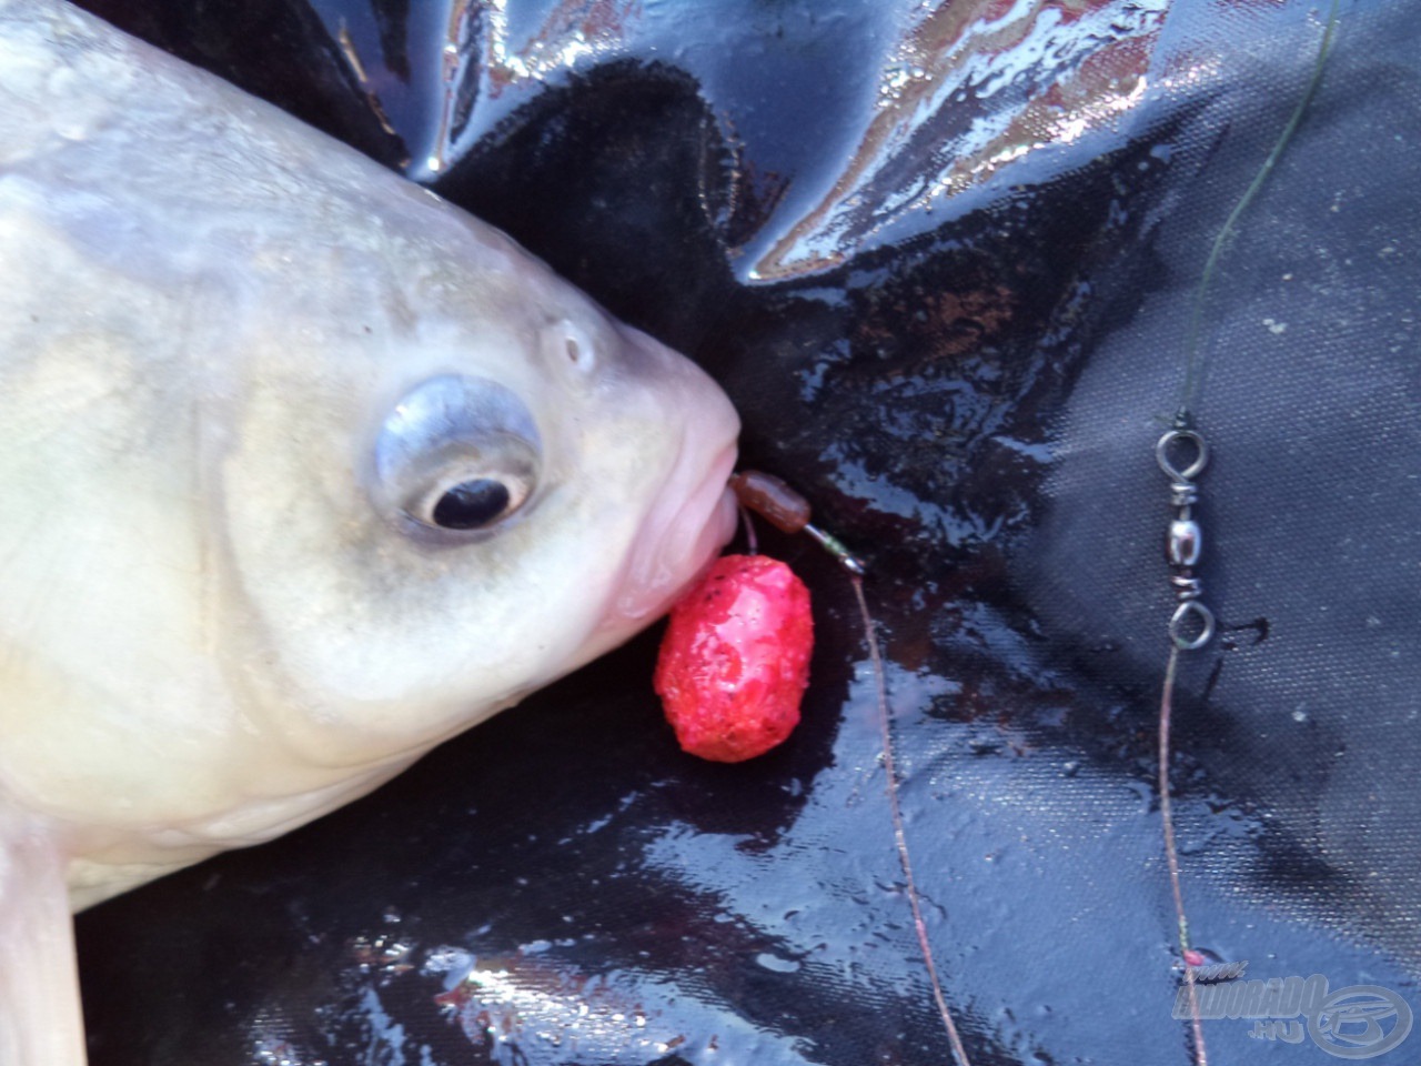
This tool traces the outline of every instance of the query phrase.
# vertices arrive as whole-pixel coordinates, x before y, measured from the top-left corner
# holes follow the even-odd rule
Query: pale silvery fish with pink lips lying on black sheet
[[[0,0],[0,1063],[84,1062],[74,910],[664,614],[735,530],[737,434],[499,230]]]

